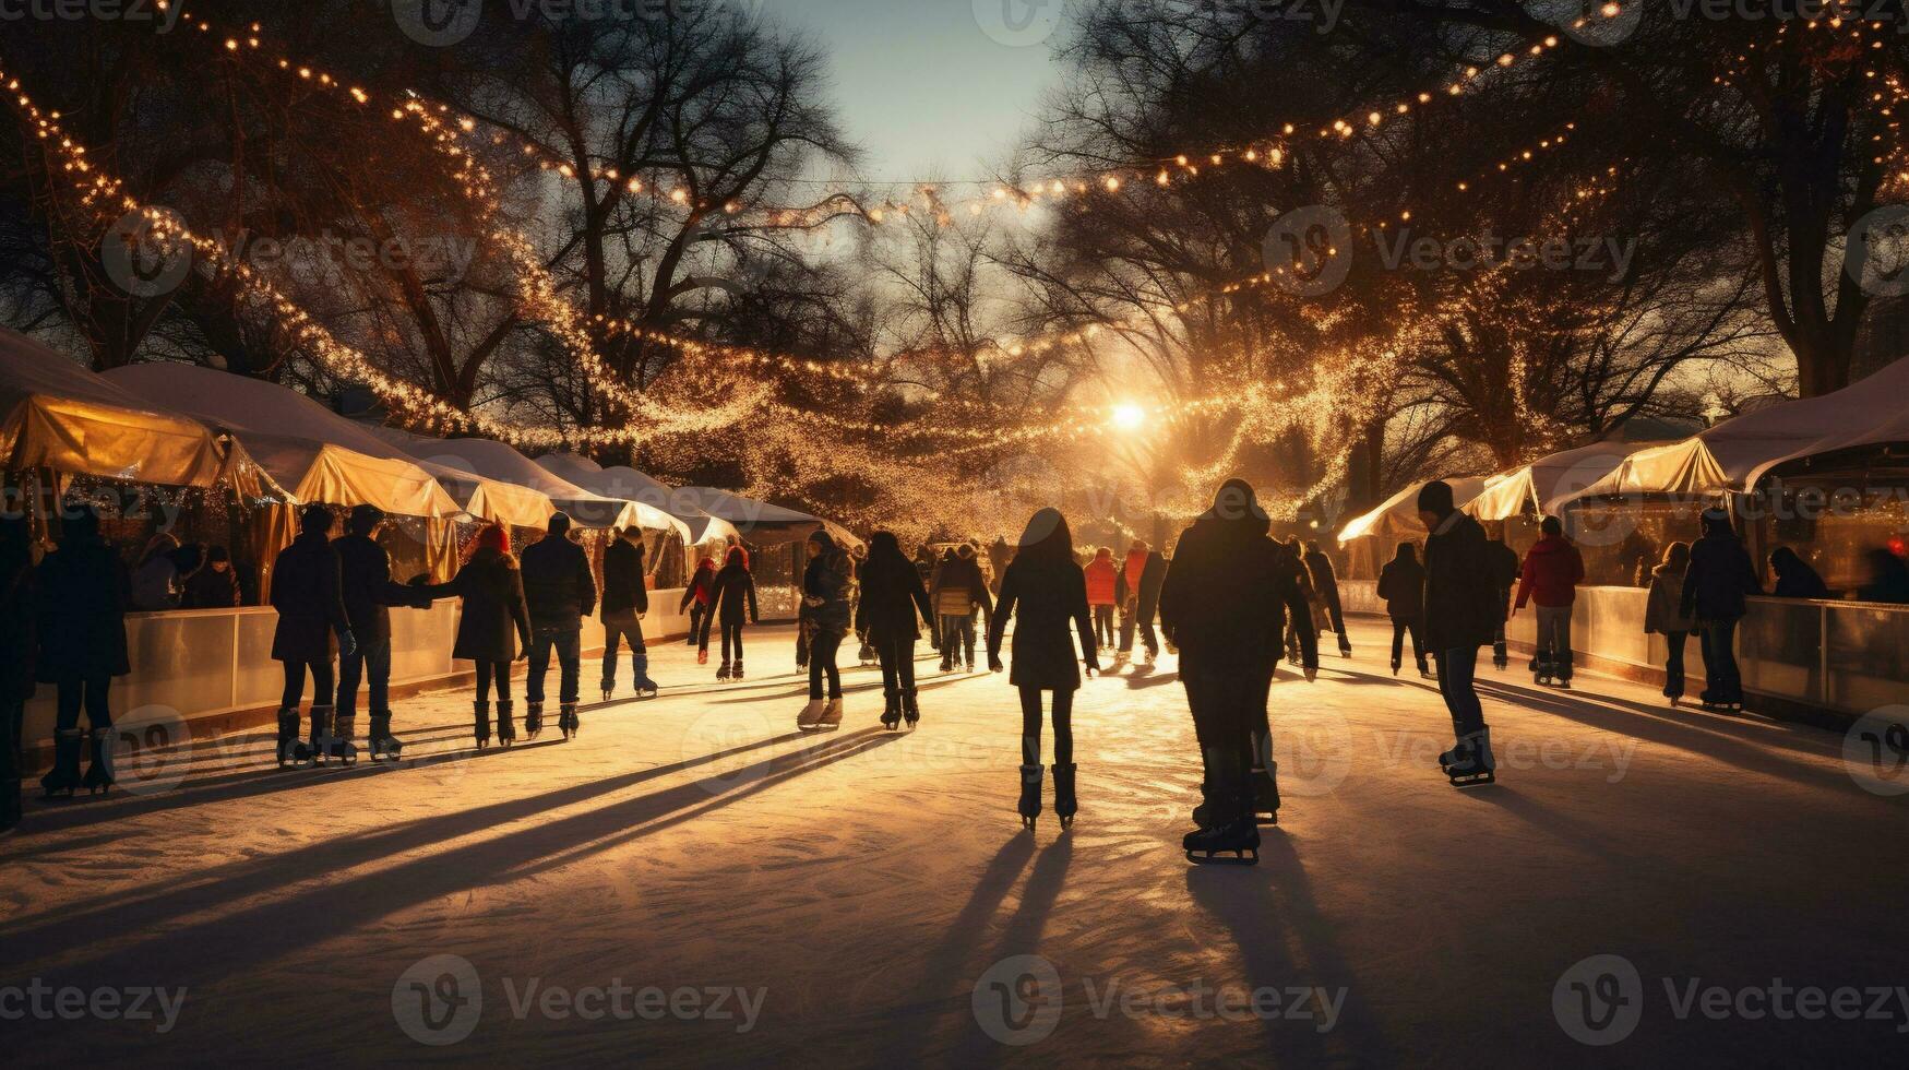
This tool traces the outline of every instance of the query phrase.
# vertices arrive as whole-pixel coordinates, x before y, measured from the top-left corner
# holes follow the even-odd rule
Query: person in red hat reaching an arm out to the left
[[[477,535],[477,548],[451,583],[412,581],[428,600],[462,598],[464,617],[451,657],[477,663],[477,697],[472,701],[472,734],[477,749],[491,745],[491,690],[496,688],[496,738],[517,741],[510,694],[510,667],[531,655],[531,608],[523,600],[523,573],[510,554],[510,533],[496,524]],[[494,684],[493,684],[494,682]]]

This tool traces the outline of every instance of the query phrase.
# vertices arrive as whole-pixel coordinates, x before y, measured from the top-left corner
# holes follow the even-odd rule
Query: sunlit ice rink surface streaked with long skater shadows
[[[1170,657],[1082,692],[1071,833],[1019,831],[1004,678],[924,659],[922,728],[897,736],[850,669],[848,724],[800,736],[787,629],[750,634],[735,686],[659,648],[662,697],[586,707],[569,745],[470,755],[460,692],[401,703],[403,768],[277,772],[265,734],[200,741],[0,841],[10,1057],[1899,1059],[1905,799],[1859,787],[1840,736],[1487,669],[1502,780],[1460,793],[1434,768],[1436,690],[1390,674],[1376,623],[1353,640],[1273,688],[1287,808],[1252,869],[1178,850],[1199,774]],[[1821,1020],[1773,1018],[1796,997],[1772,984],[1829,990],[1804,997]],[[145,986],[185,988],[168,1032],[57,995],[153,1009]],[[1869,1020],[1833,1016],[1871,986]],[[1573,1016],[1634,1032],[1586,1047]]]

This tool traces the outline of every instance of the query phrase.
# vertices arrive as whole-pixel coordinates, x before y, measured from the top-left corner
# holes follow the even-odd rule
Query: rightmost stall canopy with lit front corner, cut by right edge
[[[1846,390],[1758,409],[1695,438],[1632,453],[1573,499],[1751,491],[1789,460],[1903,441],[1905,396],[1909,361],[1896,361]]]

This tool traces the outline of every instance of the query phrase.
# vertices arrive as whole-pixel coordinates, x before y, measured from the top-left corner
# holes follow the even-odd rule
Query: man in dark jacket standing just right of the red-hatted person
[[[582,701],[584,617],[596,611],[596,575],[590,573],[590,554],[571,539],[571,518],[561,512],[550,518],[548,535],[523,548],[517,567],[523,569],[523,598],[531,610],[523,726],[536,739],[544,730],[544,676],[552,650],[557,652],[557,717],[563,724],[577,717],[577,703]],[[641,625],[636,642],[643,642]],[[641,676],[638,671],[638,680]]]

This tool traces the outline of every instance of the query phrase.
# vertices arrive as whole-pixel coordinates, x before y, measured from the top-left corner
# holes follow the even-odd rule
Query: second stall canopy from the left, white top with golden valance
[[[428,520],[462,512],[414,460],[296,390],[174,363],[105,374],[130,394],[231,432],[300,503],[374,504],[391,516]]]

